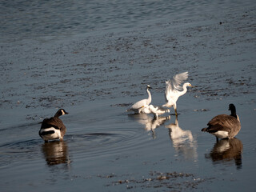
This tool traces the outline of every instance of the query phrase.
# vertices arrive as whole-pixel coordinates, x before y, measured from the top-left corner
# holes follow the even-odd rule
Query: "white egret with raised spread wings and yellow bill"
[[[183,86],[181,86],[182,82],[184,82],[188,78],[188,76],[189,76],[188,72],[184,72],[182,74],[176,74],[174,75],[173,78],[166,81],[166,91],[165,91],[166,104],[162,106],[166,106],[166,107],[174,106],[176,117],[178,116],[176,102],[180,96],[182,96],[183,94],[186,94],[186,91],[187,91],[186,87],[191,86],[190,82],[186,82],[183,84]]]

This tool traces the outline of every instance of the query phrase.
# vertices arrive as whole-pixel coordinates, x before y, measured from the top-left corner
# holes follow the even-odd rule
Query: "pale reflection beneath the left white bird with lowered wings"
[[[131,116],[131,115],[130,115]],[[164,122],[170,119],[170,115],[167,117],[153,118],[148,114],[132,114],[132,117],[140,124],[145,126],[146,131],[152,131],[152,137],[156,138],[155,129],[161,126]]]

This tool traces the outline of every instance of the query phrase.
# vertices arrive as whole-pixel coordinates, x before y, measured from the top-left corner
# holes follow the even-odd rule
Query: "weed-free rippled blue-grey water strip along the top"
[[[1,1],[1,41],[132,29],[156,20],[175,21],[218,14],[254,1]],[[215,15],[216,14],[216,15]]]

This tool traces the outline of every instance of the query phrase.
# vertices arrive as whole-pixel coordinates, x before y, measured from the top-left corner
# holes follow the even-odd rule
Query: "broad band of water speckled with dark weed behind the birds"
[[[2,43],[1,106],[29,110],[134,97],[144,94],[146,84],[160,93],[166,79],[185,70],[198,99],[253,93],[254,11],[200,16]]]

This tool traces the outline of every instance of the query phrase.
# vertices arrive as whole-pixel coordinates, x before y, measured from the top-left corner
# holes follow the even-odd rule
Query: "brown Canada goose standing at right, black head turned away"
[[[212,118],[207,124],[207,128],[203,128],[203,132],[208,132],[218,138],[234,138],[241,129],[241,123],[236,114],[234,104],[229,105],[231,114],[219,114]]]

